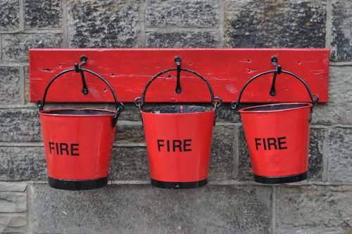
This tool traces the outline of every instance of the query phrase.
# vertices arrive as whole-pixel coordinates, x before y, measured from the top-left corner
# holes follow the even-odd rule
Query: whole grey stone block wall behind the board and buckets
[[[351,28],[350,0],[1,0],[0,232],[352,233]],[[310,178],[254,183],[241,122],[227,104],[210,183],[151,187],[142,122],[127,104],[110,185],[50,188],[27,51],[51,47],[331,48],[329,103],[313,113]]]

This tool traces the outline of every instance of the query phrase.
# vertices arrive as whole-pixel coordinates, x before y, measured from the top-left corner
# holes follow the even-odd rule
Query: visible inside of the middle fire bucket
[[[160,106],[145,110],[147,113],[199,113],[213,111],[210,107],[204,106]]]

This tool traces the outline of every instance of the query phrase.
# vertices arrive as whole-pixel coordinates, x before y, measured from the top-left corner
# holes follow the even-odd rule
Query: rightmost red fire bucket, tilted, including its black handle
[[[270,72],[275,73],[275,70]],[[249,80],[238,101],[232,103],[232,108],[238,108],[241,94],[249,82],[270,72],[260,73]],[[284,70],[281,72],[301,80],[313,103],[318,101],[318,95],[312,95],[301,78]],[[312,108],[310,103],[282,103],[239,110],[256,182],[292,183],[307,178]]]

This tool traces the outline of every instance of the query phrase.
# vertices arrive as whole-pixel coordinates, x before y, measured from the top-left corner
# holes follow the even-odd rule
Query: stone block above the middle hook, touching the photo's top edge
[[[146,1],[146,27],[218,27],[218,1]]]

